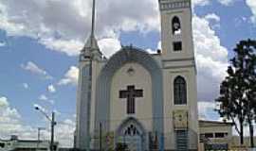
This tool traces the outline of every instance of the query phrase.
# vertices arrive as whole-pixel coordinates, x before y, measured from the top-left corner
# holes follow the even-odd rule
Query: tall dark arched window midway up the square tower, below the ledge
[[[187,104],[187,84],[182,76],[174,79],[174,105]]]

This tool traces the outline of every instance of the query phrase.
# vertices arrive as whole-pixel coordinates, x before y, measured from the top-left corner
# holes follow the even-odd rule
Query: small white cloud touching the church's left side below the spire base
[[[59,81],[59,85],[77,85],[79,77],[78,67],[71,66],[68,71],[65,73],[64,78]]]

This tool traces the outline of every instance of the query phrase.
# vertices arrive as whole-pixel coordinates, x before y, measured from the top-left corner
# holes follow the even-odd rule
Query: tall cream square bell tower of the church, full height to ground
[[[192,0],[158,0],[161,15],[165,148],[197,150],[196,66]]]

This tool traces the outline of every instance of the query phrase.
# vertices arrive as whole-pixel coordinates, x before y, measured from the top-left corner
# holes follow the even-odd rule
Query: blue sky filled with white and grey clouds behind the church
[[[97,38],[106,57],[133,43],[159,48],[157,0],[98,0]],[[213,100],[236,42],[256,39],[255,0],[194,0],[192,29],[201,119],[218,120]],[[88,37],[90,0],[0,1],[0,138],[36,138],[57,112],[57,140],[72,145],[78,54]]]

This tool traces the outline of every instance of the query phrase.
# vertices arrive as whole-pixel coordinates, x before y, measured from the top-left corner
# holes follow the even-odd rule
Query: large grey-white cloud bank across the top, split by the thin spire
[[[102,0],[97,4],[97,35],[101,40],[117,38],[120,31],[159,30],[157,7],[155,0]],[[0,29],[8,35],[36,39],[68,56],[79,54],[91,25],[91,1],[9,0],[0,2],[0,11]]]

